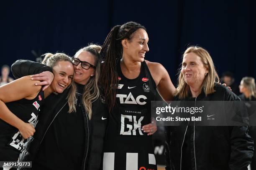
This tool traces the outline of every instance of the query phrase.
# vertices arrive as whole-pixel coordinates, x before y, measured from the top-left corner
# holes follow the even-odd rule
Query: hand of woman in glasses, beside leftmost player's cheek
[[[54,74],[50,71],[44,71],[36,75],[31,75],[31,80],[40,80],[41,82],[36,83],[35,85],[44,86],[42,90],[44,91],[51,84],[54,79]]]

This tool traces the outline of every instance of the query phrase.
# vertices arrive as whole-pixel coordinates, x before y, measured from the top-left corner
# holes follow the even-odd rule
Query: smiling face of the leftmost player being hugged
[[[53,92],[62,93],[71,83],[74,75],[74,67],[71,62],[59,61],[52,67],[54,80],[50,88]]]

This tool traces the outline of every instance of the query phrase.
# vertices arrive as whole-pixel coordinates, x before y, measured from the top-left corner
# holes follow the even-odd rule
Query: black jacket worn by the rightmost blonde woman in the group
[[[215,92],[205,96],[187,97],[190,101],[234,101],[240,100],[227,87],[215,84]],[[203,91],[203,90],[202,90]],[[174,97],[178,101],[178,97]],[[192,170],[247,170],[253,157],[253,140],[247,126],[191,126],[186,142],[190,143],[190,154],[184,158],[182,146],[187,126],[166,126],[166,170],[183,170],[191,165]],[[194,145],[195,144],[195,145]],[[180,165],[181,162],[183,165]],[[182,166],[182,167],[181,167]]]

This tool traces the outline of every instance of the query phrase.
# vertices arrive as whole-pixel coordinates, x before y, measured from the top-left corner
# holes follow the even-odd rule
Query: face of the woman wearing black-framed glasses
[[[77,57],[80,61],[86,61],[95,66],[95,57],[88,51],[82,51]],[[95,75],[95,69],[88,70],[82,68],[81,63],[74,65],[74,82],[85,85],[91,76]]]

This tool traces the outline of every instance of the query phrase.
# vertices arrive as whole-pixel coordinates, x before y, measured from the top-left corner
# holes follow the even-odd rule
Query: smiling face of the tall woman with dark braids
[[[148,48],[148,34],[143,29],[133,33],[131,40],[122,40],[123,54],[133,61],[143,62]]]

